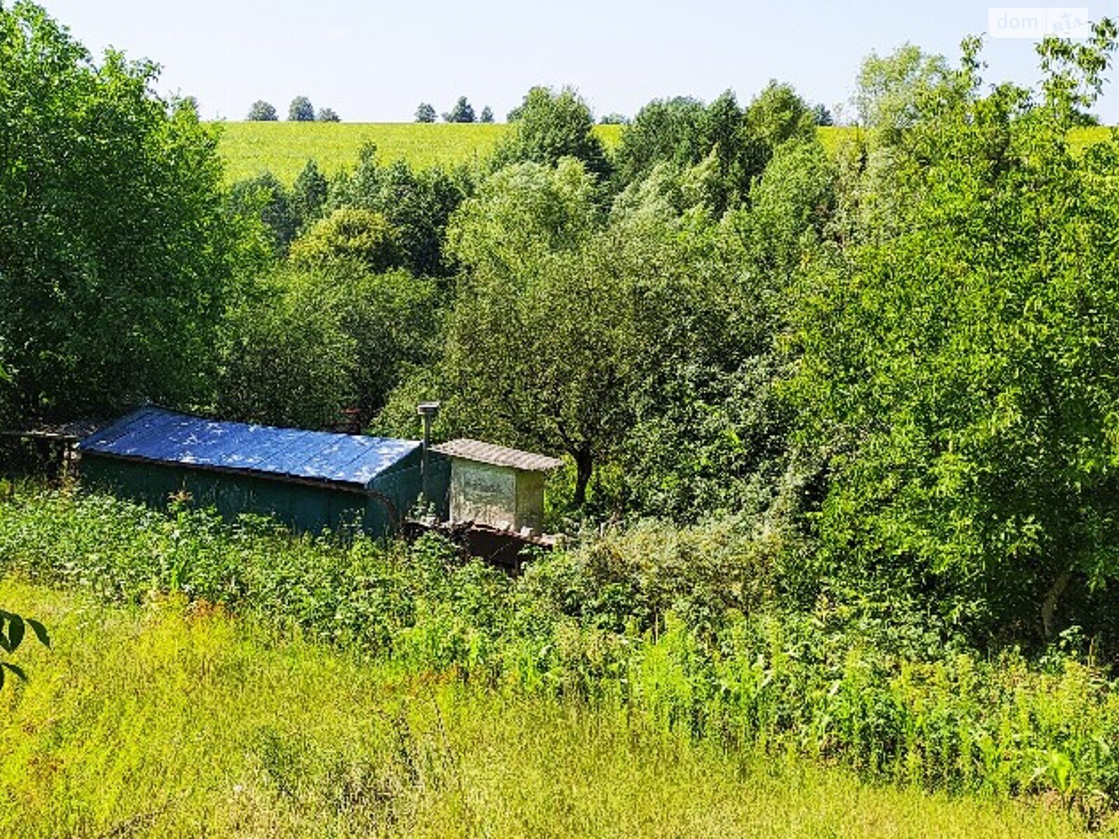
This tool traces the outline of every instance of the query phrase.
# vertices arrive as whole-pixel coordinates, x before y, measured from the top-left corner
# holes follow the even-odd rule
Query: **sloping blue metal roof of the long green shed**
[[[120,458],[366,487],[420,443],[218,422],[148,407],[94,432],[78,447]]]

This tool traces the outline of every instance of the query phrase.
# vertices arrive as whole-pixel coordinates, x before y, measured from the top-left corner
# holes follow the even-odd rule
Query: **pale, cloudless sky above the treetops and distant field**
[[[1078,0],[1083,2],[1083,0]],[[1005,2],[1005,0],[1004,0]],[[297,95],[346,122],[410,122],[466,95],[498,120],[533,85],[573,85],[598,115],[652,98],[749,102],[771,78],[828,107],[848,102],[863,57],[906,41],[953,60],[988,28],[990,3],[825,0],[40,0],[95,55],[162,66],[158,89],[192,95],[205,119],[244,119],[256,100],[281,116]],[[1083,7],[1081,7],[1083,8]],[[1088,7],[1119,16],[1119,0]],[[1034,41],[990,39],[990,82],[1032,84]],[[848,106],[849,107],[849,106]],[[1119,123],[1119,91],[1097,107]]]

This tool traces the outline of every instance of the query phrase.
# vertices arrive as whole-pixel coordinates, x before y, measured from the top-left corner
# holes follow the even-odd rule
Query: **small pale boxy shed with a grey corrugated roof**
[[[478,440],[432,446],[451,461],[451,520],[500,530],[539,532],[544,524],[544,475],[562,460]]]

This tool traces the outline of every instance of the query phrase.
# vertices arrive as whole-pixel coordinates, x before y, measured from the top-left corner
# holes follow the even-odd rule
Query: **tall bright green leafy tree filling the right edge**
[[[1119,144],[1073,154],[1068,132],[1115,38],[1104,20],[1085,44],[1044,40],[1040,95],[981,93],[968,43],[960,69],[878,100],[905,130],[849,187],[873,228],[818,261],[797,318],[799,441],[837,585],[915,587],[980,637],[1109,613]]]

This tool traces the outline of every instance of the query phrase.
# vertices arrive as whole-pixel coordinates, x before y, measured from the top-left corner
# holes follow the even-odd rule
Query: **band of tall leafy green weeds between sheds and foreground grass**
[[[1119,685],[1103,669],[1060,650],[987,659],[905,603],[782,607],[771,538],[647,526],[511,581],[433,538],[292,538],[51,491],[0,501],[0,569],[40,583],[131,605],[180,592],[402,682],[573,703],[696,748],[1042,796],[1083,823],[1113,810]]]

